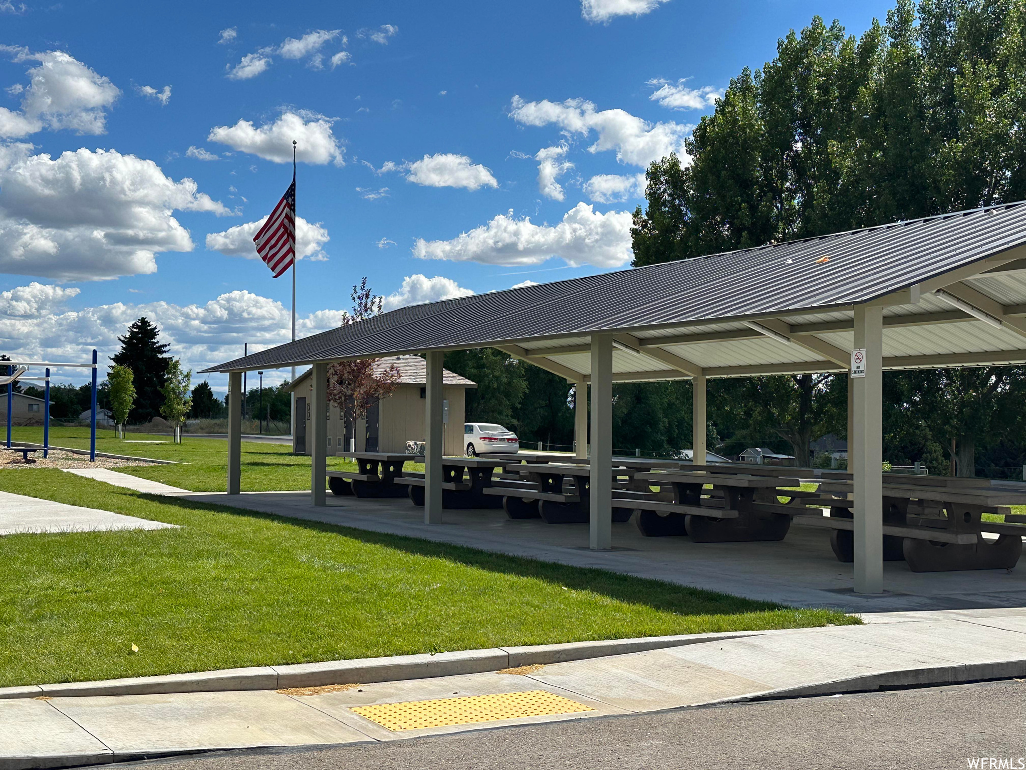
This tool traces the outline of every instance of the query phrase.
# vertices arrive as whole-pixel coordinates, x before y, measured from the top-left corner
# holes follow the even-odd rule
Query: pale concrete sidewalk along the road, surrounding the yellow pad
[[[1026,676],[1026,608],[883,613],[871,620],[553,663],[519,673],[369,683],[313,695],[256,690],[0,700],[0,770],[396,740],[724,700]],[[540,690],[592,710],[398,732],[353,710]]]

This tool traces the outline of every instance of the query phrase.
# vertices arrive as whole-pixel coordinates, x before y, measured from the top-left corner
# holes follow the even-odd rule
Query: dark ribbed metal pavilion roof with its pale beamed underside
[[[621,381],[839,371],[870,302],[889,369],[1026,362],[1026,202],[400,308],[204,372],[495,346],[581,381],[595,332]]]

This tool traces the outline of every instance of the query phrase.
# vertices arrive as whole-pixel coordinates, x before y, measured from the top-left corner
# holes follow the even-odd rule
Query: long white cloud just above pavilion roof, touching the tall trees
[[[582,202],[557,225],[536,225],[511,210],[451,240],[418,238],[413,256],[486,265],[537,265],[559,257],[575,266],[619,267],[632,256],[631,213],[601,214]]]

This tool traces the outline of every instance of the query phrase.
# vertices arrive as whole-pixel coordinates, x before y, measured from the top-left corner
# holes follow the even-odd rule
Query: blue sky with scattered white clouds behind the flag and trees
[[[732,76],[887,7],[0,0],[0,350],[110,354],[142,314],[197,369],[287,340],[244,253],[293,136],[301,334],[364,275],[396,307],[627,266],[637,175]]]

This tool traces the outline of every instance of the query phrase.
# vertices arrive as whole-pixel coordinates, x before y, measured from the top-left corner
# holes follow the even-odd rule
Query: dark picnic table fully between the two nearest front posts
[[[775,495],[777,487],[798,486],[797,478],[731,475],[707,470],[638,473],[643,482],[669,484],[672,501],[642,495],[621,495],[637,509],[635,522],[642,535],[690,535],[699,543],[783,540],[791,516],[756,506],[756,493]],[[712,487],[711,491],[705,489]],[[617,497],[617,493],[614,493]],[[614,503],[616,504],[616,502]]]

